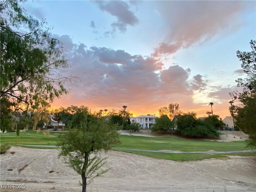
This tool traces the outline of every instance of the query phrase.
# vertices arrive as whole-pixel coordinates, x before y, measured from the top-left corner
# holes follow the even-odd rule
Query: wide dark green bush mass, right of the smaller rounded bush
[[[214,117],[214,118],[213,118]],[[216,121],[217,116],[208,117],[205,120],[196,120],[193,114],[184,114],[177,121],[177,130],[183,136],[192,137],[219,137],[215,126],[219,123]]]

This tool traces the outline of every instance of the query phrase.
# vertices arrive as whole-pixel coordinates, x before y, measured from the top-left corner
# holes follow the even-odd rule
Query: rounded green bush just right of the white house
[[[167,115],[162,115],[160,118],[156,118],[156,123],[151,128],[152,132],[156,131],[168,131],[170,128],[172,128],[173,122],[168,118]]]

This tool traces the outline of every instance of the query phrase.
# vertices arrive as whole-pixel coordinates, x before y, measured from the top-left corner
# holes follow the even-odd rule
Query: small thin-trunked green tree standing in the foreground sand
[[[108,151],[113,145],[120,143],[118,125],[109,124],[102,118],[91,118],[88,111],[83,110],[80,124],[60,135],[58,146],[61,146],[59,158],[63,158],[74,171],[82,177],[82,192],[86,186],[108,171],[100,169],[106,158],[100,158],[97,152]],[[94,154],[93,154],[94,153]]]

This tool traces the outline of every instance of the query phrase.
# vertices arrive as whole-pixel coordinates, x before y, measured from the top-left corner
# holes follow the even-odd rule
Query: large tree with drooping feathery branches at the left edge
[[[52,38],[45,20],[38,21],[20,6],[25,0],[0,2],[0,109],[1,127],[15,110],[47,108],[54,98],[67,94],[72,77],[61,42]]]

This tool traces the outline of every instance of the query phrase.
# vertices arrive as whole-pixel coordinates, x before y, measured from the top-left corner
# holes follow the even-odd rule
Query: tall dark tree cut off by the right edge
[[[230,93],[232,99],[238,102],[230,107],[234,112],[236,125],[249,135],[248,147],[256,148],[256,41],[251,40],[251,52],[237,51],[236,56],[242,62],[241,68],[246,78],[238,78],[237,86],[242,87],[242,92]]]

